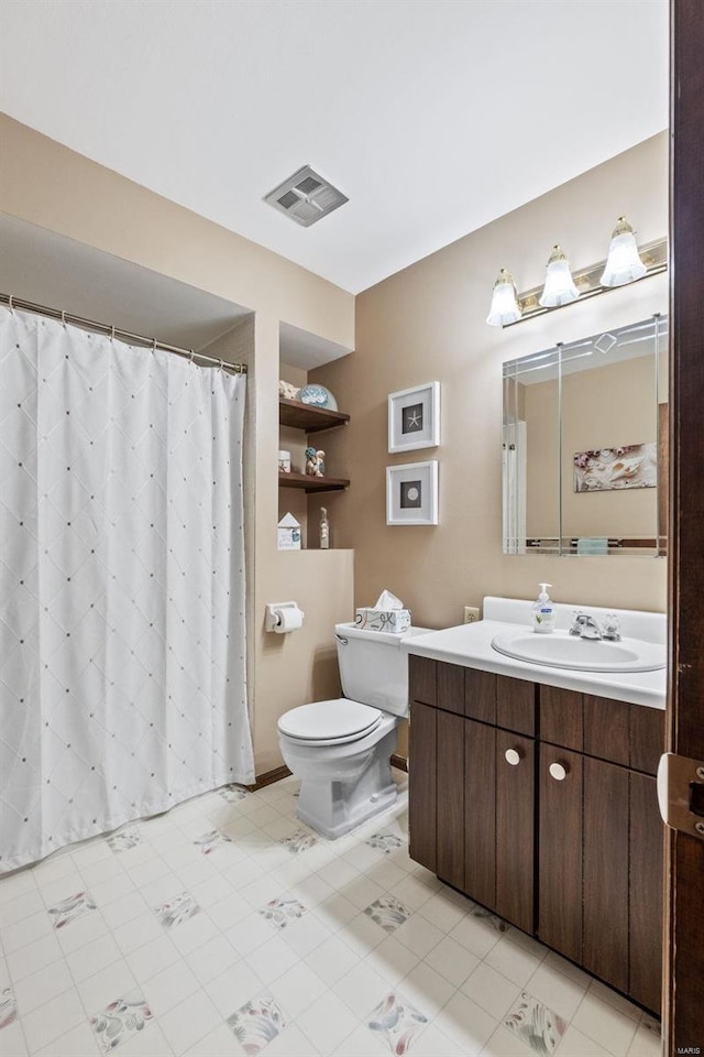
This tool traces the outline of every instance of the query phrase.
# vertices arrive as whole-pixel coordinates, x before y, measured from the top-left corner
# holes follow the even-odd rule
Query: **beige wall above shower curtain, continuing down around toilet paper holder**
[[[249,689],[256,772],[276,767],[282,762],[278,716],[311,696],[339,693],[331,664],[332,625],[352,615],[353,575],[349,552],[279,554],[276,548],[279,323],[352,348],[354,297],[4,116],[0,148],[3,213],[256,314],[254,322],[249,319],[213,348],[224,359],[250,363]],[[32,296],[31,291],[23,294]],[[287,636],[265,633],[265,603],[292,598],[306,612],[306,626]]]

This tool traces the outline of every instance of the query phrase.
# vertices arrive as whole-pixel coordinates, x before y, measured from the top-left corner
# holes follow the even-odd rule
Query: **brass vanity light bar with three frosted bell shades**
[[[578,298],[586,301],[587,297],[604,294],[607,290],[625,286],[667,270],[668,240],[656,239],[639,249],[632,227],[625,217],[619,217],[608,248],[608,259],[582,269],[574,275],[570,272],[568,260],[559,246],[556,246],[550,254],[542,287],[535,286],[517,294],[510,273],[503,268],[494,284],[492,307],[486,322],[493,327],[509,327],[534,316],[542,316],[546,312],[553,312]]]

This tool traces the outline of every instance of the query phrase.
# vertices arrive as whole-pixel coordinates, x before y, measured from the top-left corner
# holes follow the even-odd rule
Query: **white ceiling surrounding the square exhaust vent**
[[[666,128],[668,2],[3,0],[0,66],[12,117],[356,293]],[[304,164],[350,197],[308,229],[262,201]]]

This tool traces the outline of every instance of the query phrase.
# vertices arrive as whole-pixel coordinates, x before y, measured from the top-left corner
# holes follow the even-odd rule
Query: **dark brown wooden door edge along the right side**
[[[671,41],[670,673],[668,748],[704,760],[704,3]],[[666,840],[664,1036],[704,1053],[704,840]]]

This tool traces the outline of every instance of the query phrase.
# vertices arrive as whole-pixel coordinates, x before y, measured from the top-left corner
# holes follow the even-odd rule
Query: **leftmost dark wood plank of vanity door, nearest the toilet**
[[[411,701],[408,731],[408,842],[416,862],[436,870],[438,711]]]

